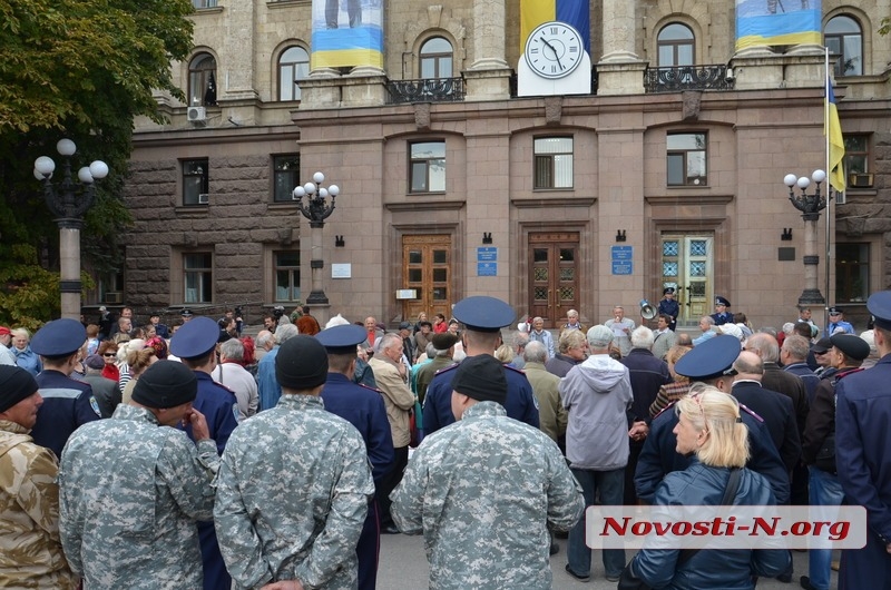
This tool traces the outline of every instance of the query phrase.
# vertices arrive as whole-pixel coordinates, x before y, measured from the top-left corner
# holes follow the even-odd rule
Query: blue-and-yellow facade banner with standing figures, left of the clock
[[[313,0],[311,69],[383,69],[383,0]]]

